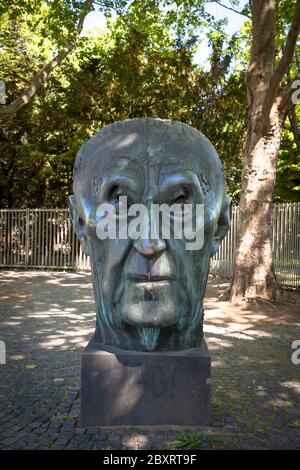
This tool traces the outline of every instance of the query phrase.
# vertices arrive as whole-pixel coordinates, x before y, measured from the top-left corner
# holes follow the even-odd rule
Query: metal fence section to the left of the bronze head
[[[89,269],[67,209],[1,209],[0,267]]]

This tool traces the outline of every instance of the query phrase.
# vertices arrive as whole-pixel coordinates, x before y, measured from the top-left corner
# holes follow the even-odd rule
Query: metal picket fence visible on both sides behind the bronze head
[[[230,277],[239,235],[239,208],[211,260],[211,273]],[[273,224],[276,274],[283,284],[300,286],[300,203],[276,204]],[[89,270],[67,209],[1,209],[0,267]]]

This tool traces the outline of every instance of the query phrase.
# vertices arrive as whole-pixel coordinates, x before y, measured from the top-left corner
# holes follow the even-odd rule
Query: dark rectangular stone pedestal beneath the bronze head
[[[82,355],[81,426],[210,424],[206,343],[179,352],[123,351],[92,339]]]

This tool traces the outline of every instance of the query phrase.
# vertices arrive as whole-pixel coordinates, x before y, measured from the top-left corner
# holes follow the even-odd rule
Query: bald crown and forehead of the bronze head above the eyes
[[[147,184],[159,195],[164,179],[176,173],[199,185],[202,198],[218,204],[225,195],[220,158],[198,130],[177,121],[133,119],[104,127],[79,150],[74,167],[74,192],[98,198],[110,174],[123,174],[133,184]]]

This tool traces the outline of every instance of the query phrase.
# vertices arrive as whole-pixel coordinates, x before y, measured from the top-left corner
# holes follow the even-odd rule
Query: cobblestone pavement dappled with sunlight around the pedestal
[[[217,302],[209,281],[212,425],[201,448],[300,449],[300,295],[281,304]],[[90,275],[0,272],[0,448],[165,449],[180,429],[79,427],[80,354],[94,329]],[[185,432],[188,432],[185,430]],[[179,442],[182,442],[179,441]],[[178,445],[178,444],[177,444]]]

